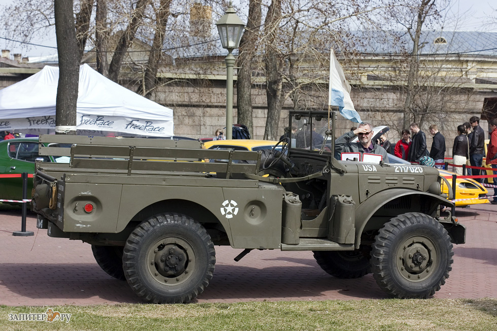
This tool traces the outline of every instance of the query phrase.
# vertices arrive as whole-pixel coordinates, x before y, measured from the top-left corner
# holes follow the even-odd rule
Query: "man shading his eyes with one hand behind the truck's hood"
[[[350,142],[355,136],[358,136],[358,142]],[[364,153],[381,155],[383,162],[388,162],[388,156],[384,148],[379,144],[373,143],[373,127],[369,123],[361,123],[353,131],[346,132],[344,135],[335,140],[335,158],[340,159],[341,153],[360,153],[361,160]]]

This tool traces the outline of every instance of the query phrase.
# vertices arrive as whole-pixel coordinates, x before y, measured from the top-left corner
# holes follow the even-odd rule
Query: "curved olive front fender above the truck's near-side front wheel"
[[[359,248],[359,244],[361,243],[361,234],[366,227],[366,224],[369,222],[370,218],[384,206],[386,203],[393,201],[395,199],[406,197],[406,196],[424,196],[428,199],[432,199],[438,204],[447,206],[451,208],[453,203],[449,200],[434,195],[428,192],[420,192],[420,191],[406,191],[405,189],[389,189],[376,193],[372,197],[369,197],[366,201],[361,203],[361,205],[356,209],[356,246]],[[408,211],[416,211],[416,210],[406,210]],[[432,212],[434,212],[433,210]]]

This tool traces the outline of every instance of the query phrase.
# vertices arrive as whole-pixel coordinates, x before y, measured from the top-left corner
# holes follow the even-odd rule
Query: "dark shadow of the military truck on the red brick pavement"
[[[30,299],[78,300],[98,297],[116,303],[141,303],[126,281],[105,274],[95,264],[0,264],[0,279],[9,291]],[[217,266],[209,286],[194,302],[232,300],[326,300],[325,292],[342,299],[383,299],[373,277],[338,279],[319,267],[264,269]]]

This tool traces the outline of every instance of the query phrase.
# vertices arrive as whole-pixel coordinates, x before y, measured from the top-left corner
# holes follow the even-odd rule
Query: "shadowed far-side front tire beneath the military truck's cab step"
[[[371,272],[363,250],[316,250],[314,259],[321,269],[337,278],[359,278]]]

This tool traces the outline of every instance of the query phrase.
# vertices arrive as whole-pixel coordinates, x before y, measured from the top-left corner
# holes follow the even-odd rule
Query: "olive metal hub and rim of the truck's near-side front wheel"
[[[409,281],[421,281],[431,275],[433,266],[438,263],[433,242],[424,236],[414,236],[405,240],[399,249],[397,268]]]

